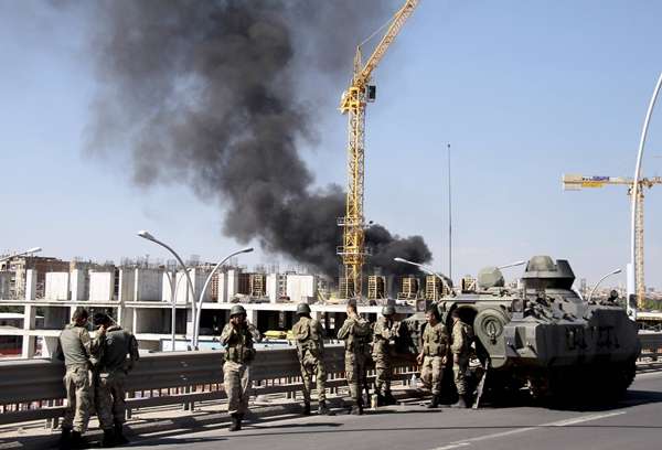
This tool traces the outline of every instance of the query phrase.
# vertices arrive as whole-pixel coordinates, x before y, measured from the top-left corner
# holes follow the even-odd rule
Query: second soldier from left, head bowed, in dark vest
[[[97,416],[104,430],[102,447],[128,443],[122,432],[127,409],[125,382],[139,360],[138,341],[134,334],[114,324],[107,314],[94,314],[93,323],[98,326],[95,341],[102,349],[94,383]]]

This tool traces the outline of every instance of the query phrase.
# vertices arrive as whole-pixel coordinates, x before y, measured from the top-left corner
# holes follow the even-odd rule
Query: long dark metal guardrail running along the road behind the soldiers
[[[662,355],[662,333],[639,334],[642,360]],[[340,345],[325,349],[328,388],[337,389],[344,379],[344,351]],[[414,373],[409,363],[401,362],[395,379],[408,379]],[[0,362],[0,425],[62,415],[65,390],[64,367],[49,360]],[[301,389],[299,362],[295,349],[258,350],[252,365],[254,394],[296,393]],[[183,404],[225,398],[223,352],[168,352],[141,357],[127,378],[129,408]],[[130,410],[130,409],[129,409]]]

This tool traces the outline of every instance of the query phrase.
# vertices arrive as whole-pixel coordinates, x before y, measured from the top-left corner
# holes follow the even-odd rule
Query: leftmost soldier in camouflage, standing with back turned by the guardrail
[[[61,449],[78,449],[85,446],[82,435],[87,430],[92,409],[89,369],[99,356],[98,345],[87,332],[87,310],[77,308],[72,323],[60,333],[55,356],[64,361],[66,372],[66,409],[62,419]],[[104,331],[99,331],[104,333]]]

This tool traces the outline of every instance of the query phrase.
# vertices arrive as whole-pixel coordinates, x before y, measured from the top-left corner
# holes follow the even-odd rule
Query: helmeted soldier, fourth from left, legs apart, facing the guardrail
[[[297,306],[299,321],[292,326],[297,340],[297,355],[303,378],[303,414],[310,416],[310,390],[312,375],[318,389],[318,414],[333,416],[327,407],[327,371],[324,369],[324,330],[322,324],[310,318],[310,307],[307,303]]]

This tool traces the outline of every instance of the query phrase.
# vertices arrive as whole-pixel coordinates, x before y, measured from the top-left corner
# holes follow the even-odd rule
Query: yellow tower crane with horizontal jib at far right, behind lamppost
[[[563,188],[568,191],[578,191],[583,188],[602,188],[606,184],[622,184],[629,186],[628,195],[631,195],[632,179],[624,176],[583,176],[563,175]],[[637,291],[637,308],[643,309],[645,301],[645,283],[643,280],[643,189],[662,184],[662,176],[639,180],[637,189],[637,217],[634,223],[634,245],[637,258],[634,260],[634,280]]]

